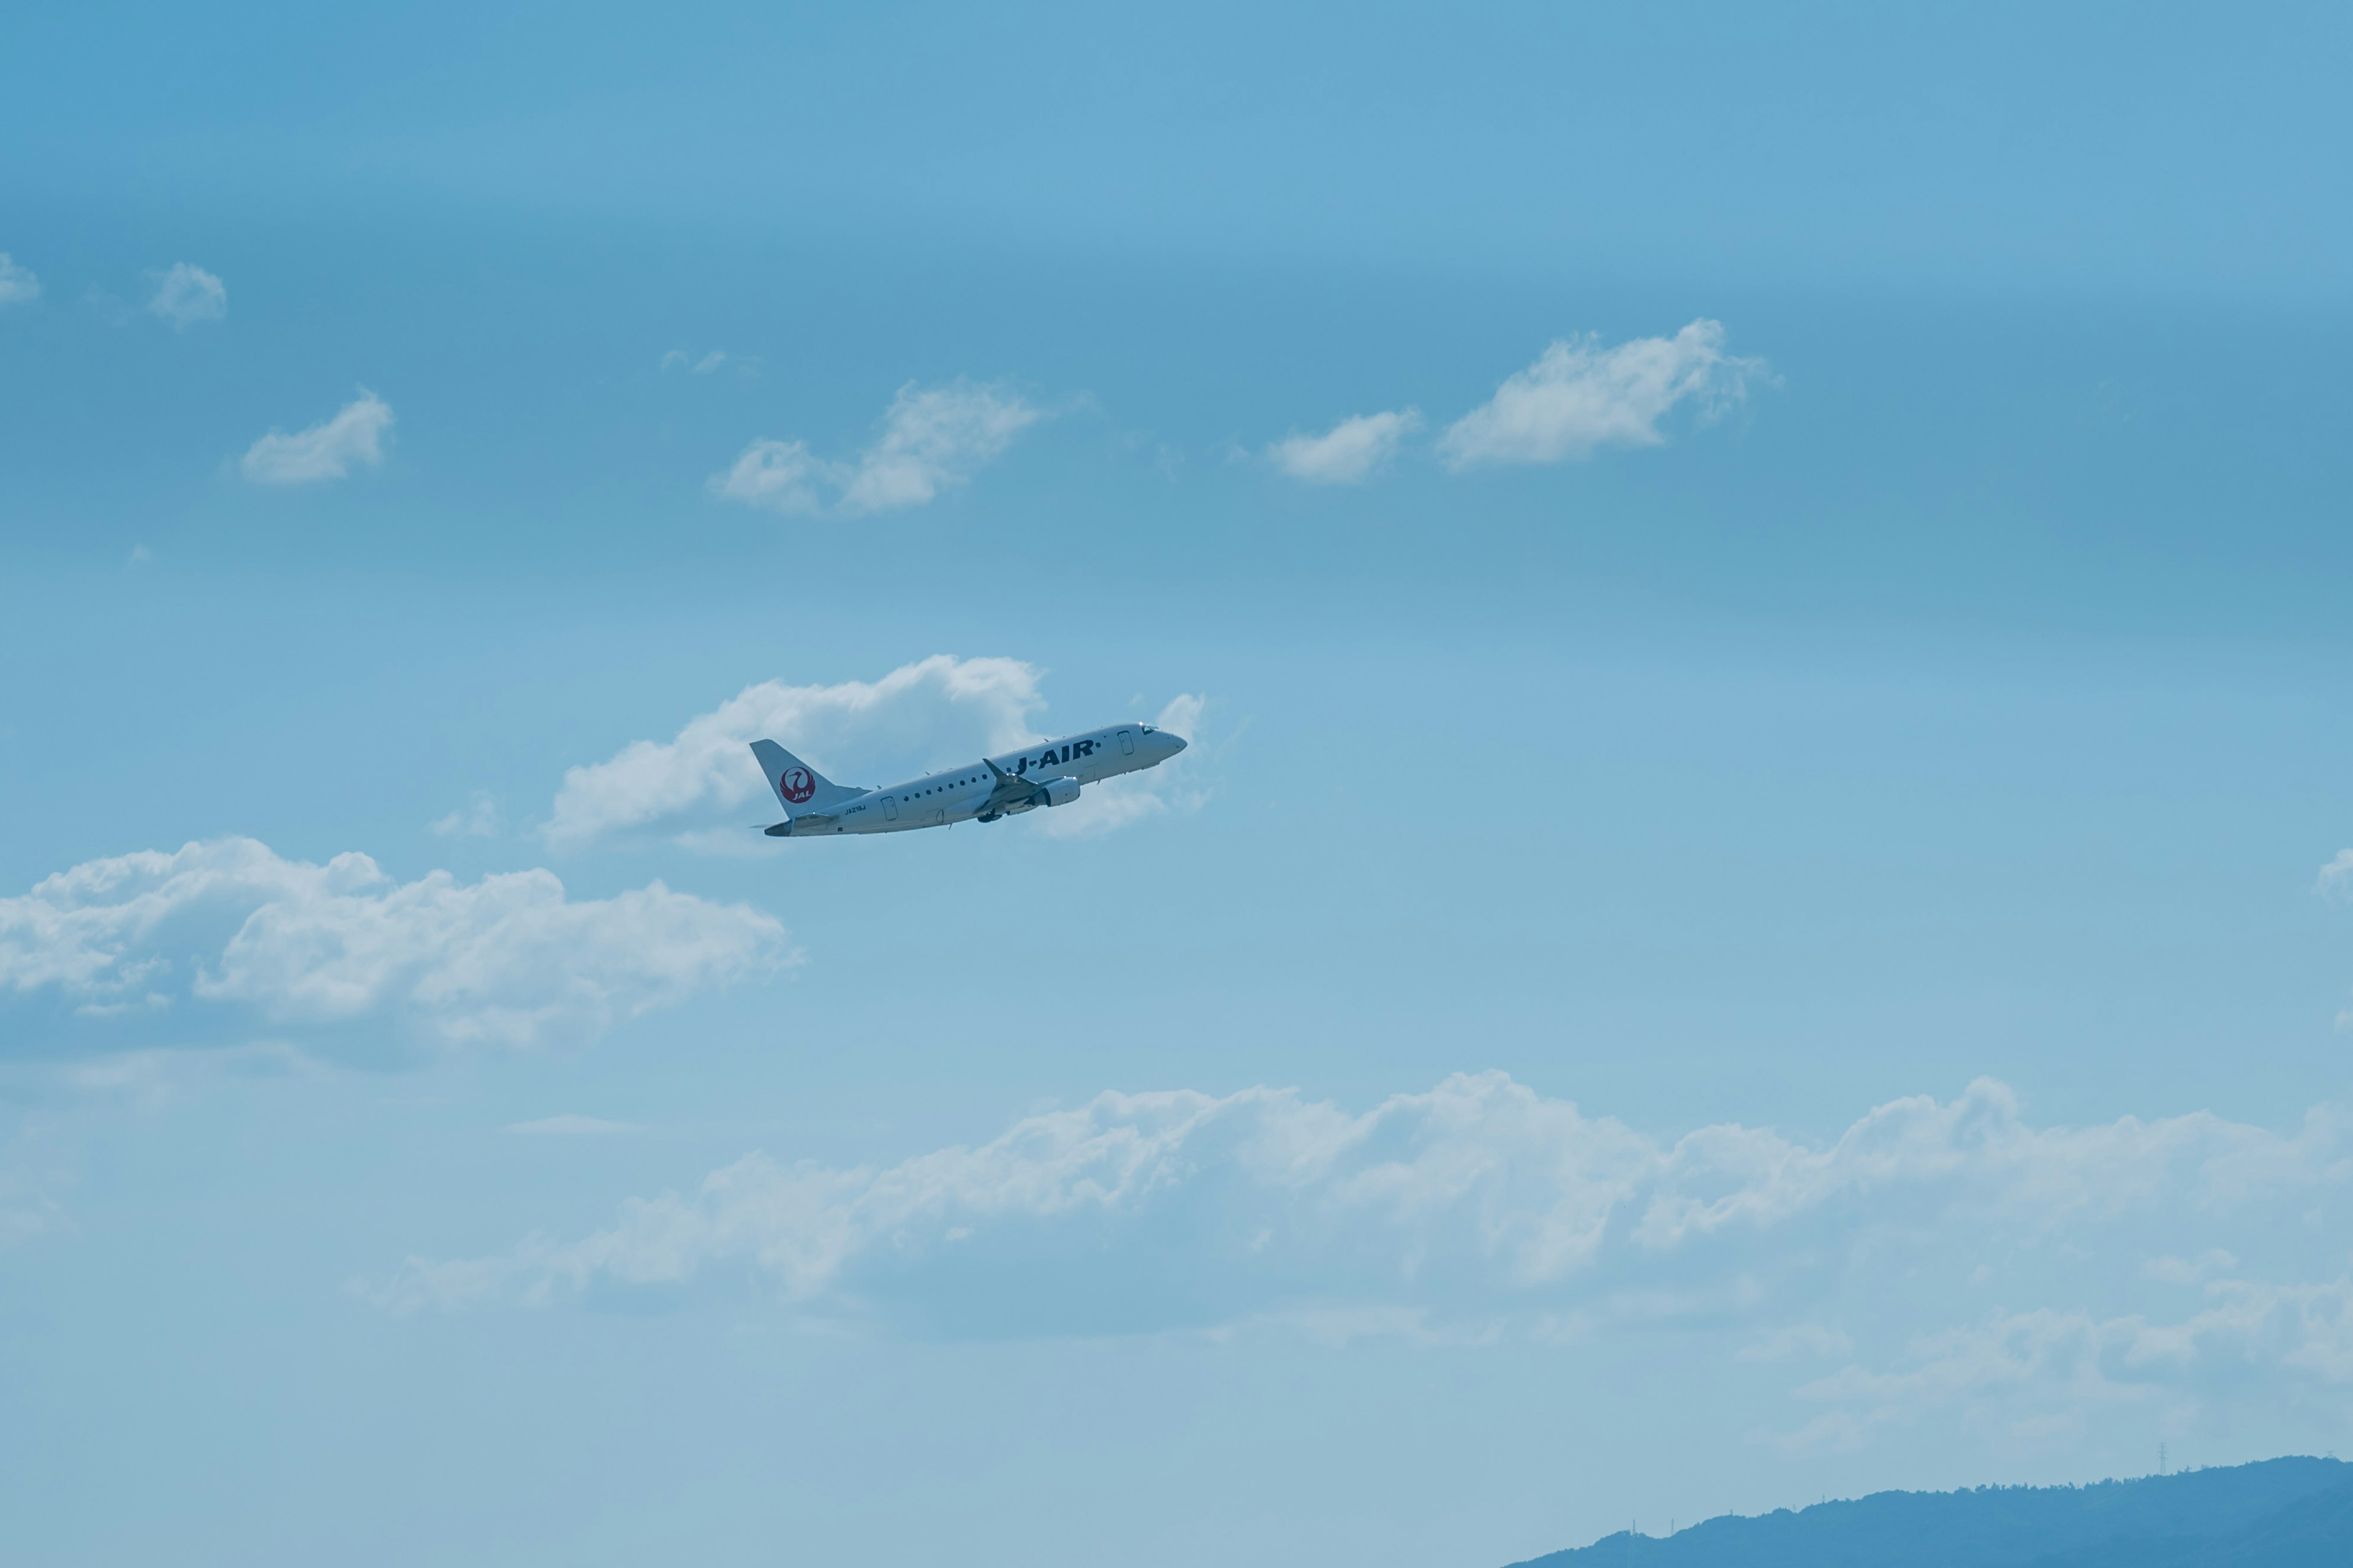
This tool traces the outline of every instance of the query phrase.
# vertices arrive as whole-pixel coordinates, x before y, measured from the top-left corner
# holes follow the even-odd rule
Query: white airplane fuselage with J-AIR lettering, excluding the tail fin
[[[1184,738],[1151,724],[1108,724],[991,757],[998,771],[972,762],[887,790],[866,790],[824,811],[793,813],[791,837],[993,823],[1035,806],[1066,804],[1078,797],[1080,785],[1158,766],[1184,748]]]

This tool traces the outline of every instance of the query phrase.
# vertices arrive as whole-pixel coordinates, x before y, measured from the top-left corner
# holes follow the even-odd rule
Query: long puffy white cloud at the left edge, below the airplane
[[[772,917],[661,882],[572,900],[546,870],[393,882],[362,853],[313,865],[254,839],[85,860],[0,898],[0,992],[54,994],[92,1020],[195,1001],[532,1046],[791,959]]]

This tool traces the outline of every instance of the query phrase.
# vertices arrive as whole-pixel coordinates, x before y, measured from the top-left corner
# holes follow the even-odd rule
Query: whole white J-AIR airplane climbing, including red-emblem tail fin
[[[1181,750],[1184,738],[1165,729],[1113,724],[1002,757],[981,757],[887,790],[852,790],[828,780],[774,741],[751,743],[751,755],[767,773],[767,788],[784,802],[784,820],[765,830],[772,839],[993,823],[1038,806],[1068,806],[1082,785],[1160,766]]]

